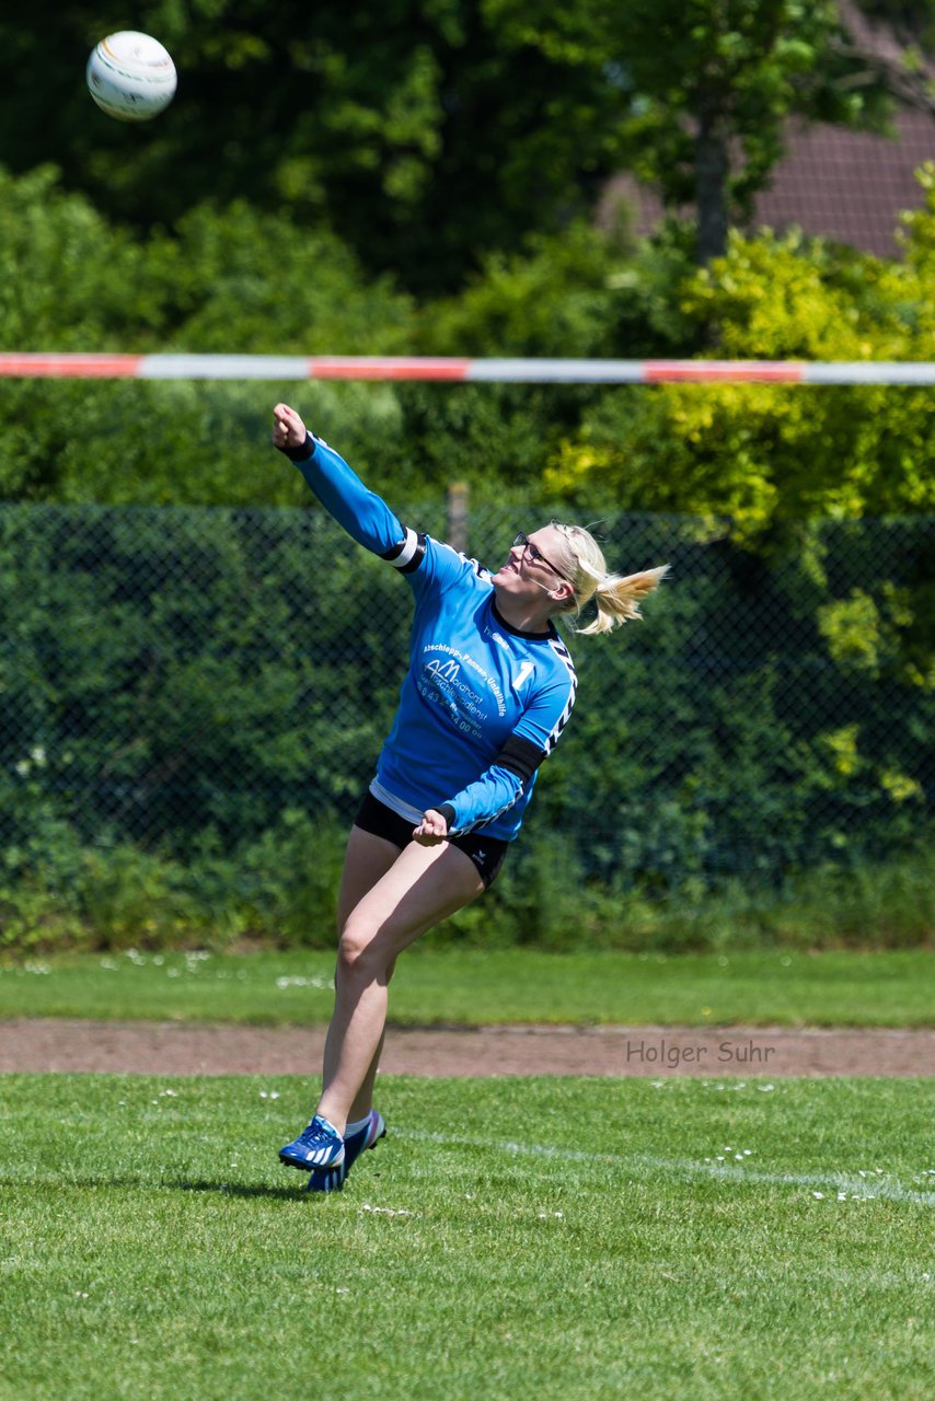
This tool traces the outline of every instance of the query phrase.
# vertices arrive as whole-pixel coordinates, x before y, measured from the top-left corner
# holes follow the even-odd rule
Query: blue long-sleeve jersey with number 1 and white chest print
[[[407,579],[415,598],[409,670],[371,792],[418,824],[444,813],[456,836],[474,828],[510,841],[575,703],[572,658],[548,633],[510,628],[489,570],[400,524],[350,467],[308,434],[296,462],[321,504]]]

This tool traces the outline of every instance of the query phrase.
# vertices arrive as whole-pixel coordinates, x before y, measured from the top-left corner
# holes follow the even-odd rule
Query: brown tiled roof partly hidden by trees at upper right
[[[922,161],[935,160],[935,118],[904,109],[894,127],[896,139],[887,139],[838,126],[792,126],[786,154],[770,188],[757,196],[751,227],[782,231],[796,226],[878,256],[896,256],[899,216],[924,200],[914,172]],[[634,209],[636,233],[652,233],[662,216],[655,191],[629,175],[617,177],[603,202],[603,219],[620,200]]]

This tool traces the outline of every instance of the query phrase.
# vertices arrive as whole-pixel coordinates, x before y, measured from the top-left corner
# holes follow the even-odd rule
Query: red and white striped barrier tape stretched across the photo
[[[461,384],[935,384],[928,360],[468,360],[456,356],[0,352],[0,378],[449,380]]]

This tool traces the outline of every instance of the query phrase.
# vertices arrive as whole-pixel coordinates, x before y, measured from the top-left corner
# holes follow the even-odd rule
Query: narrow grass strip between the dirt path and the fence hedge
[[[935,1023],[931,951],[548,954],[419,948],[400,961],[397,1023],[878,1026]],[[70,955],[0,964],[0,1017],[315,1023],[321,951]]]

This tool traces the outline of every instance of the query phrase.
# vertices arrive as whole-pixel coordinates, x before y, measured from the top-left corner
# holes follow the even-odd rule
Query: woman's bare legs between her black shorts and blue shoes
[[[367,834],[357,834],[366,836]],[[383,848],[388,843],[380,838]],[[356,841],[362,885],[364,864],[376,870],[376,848]],[[364,852],[373,857],[363,860]],[[385,857],[385,852],[384,852]],[[350,895],[352,878],[342,883]],[[338,947],[335,1010],[328,1028],[318,1114],[343,1133],[352,1110],[366,1114],[387,1019],[387,985],[397,955],[433,925],[484,890],[474,862],[447,842],[414,842],[346,913]],[[350,904],[350,899],[348,901]],[[366,1103],[364,1103],[366,1100]]]

